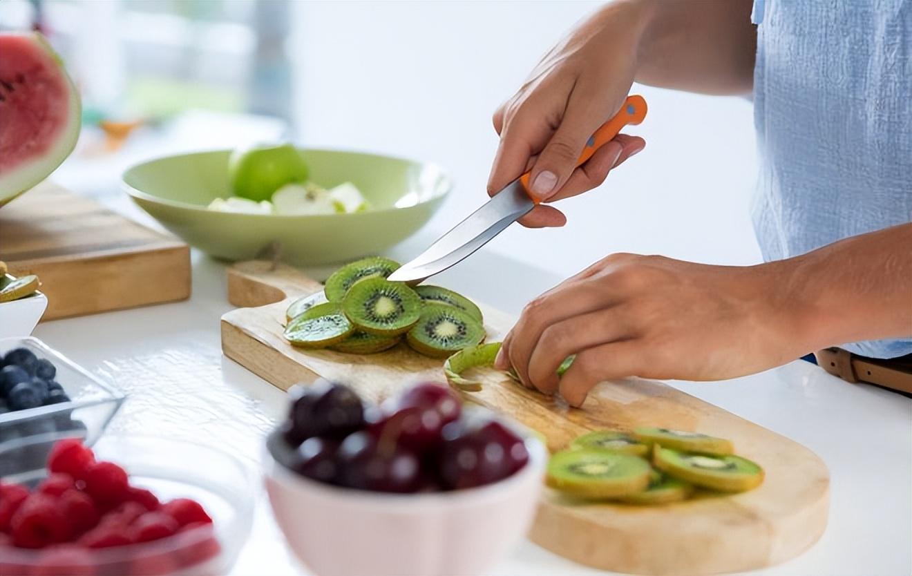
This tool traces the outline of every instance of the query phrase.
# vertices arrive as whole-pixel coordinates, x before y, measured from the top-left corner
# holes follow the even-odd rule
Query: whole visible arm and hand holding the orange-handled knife
[[[557,43],[494,113],[501,136],[489,193],[532,170],[532,193],[556,201],[591,190],[646,146],[619,135],[575,169],[586,139],[617,113],[634,79],[711,94],[751,90],[756,33],[750,0],[620,0]],[[560,226],[539,206],[527,226]]]

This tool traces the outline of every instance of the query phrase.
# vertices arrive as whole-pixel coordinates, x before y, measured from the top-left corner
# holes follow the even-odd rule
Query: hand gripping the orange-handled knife
[[[488,194],[532,170],[532,195],[557,201],[601,185],[608,172],[646,146],[626,134],[576,168],[586,140],[620,109],[637,68],[637,45],[648,3],[616,2],[599,9],[554,46],[519,91],[494,113],[501,136]],[[552,206],[538,205],[520,222],[563,226]]]

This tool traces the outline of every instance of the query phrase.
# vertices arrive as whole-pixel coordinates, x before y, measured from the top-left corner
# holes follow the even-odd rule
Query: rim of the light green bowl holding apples
[[[435,191],[434,193],[430,194],[430,196],[425,198],[424,200],[417,201],[410,206],[403,206],[402,208],[397,208],[395,206],[391,206],[389,208],[380,208],[378,210],[368,210],[368,211],[362,211],[362,212],[339,212],[339,213],[334,213],[334,214],[259,214],[259,213],[254,213],[254,212],[248,213],[248,212],[213,211],[213,210],[209,210],[208,207],[201,206],[199,204],[192,204],[190,202],[176,201],[176,200],[161,198],[161,196],[156,196],[154,194],[150,194],[149,192],[140,190],[140,189],[136,188],[135,186],[132,186],[127,181],[127,178],[128,178],[128,175],[130,174],[130,172],[132,172],[133,170],[140,169],[140,168],[142,168],[148,164],[152,164],[154,162],[160,162],[162,160],[177,159],[177,158],[188,157],[188,156],[202,156],[205,154],[214,154],[214,153],[229,153],[230,154],[233,151],[233,149],[203,149],[203,150],[196,150],[194,152],[183,152],[180,154],[163,154],[161,156],[155,156],[152,158],[143,159],[140,162],[131,164],[129,168],[127,168],[120,174],[120,188],[123,191],[125,191],[130,196],[130,198],[132,198],[134,201],[137,201],[137,200],[147,201],[152,204],[161,204],[163,206],[170,206],[171,208],[178,208],[181,210],[201,211],[201,212],[214,213],[214,214],[226,214],[228,217],[233,217],[233,216],[244,217],[244,218],[257,217],[257,218],[261,218],[264,220],[268,220],[268,219],[331,219],[331,218],[338,219],[339,217],[363,217],[368,214],[383,214],[386,212],[409,210],[409,209],[415,208],[417,206],[420,206],[422,204],[428,204],[432,201],[439,201],[441,199],[446,198],[447,195],[450,194],[450,192],[452,191],[453,186],[454,186],[454,180],[453,180],[451,172],[449,170],[445,170],[437,162],[401,158],[399,156],[389,156],[387,154],[376,154],[374,152],[365,152],[365,151],[360,151],[360,150],[355,150],[355,149],[302,148],[300,146],[295,146],[295,148],[298,150],[303,150],[303,151],[353,154],[353,155],[358,155],[358,156],[369,156],[369,157],[378,158],[378,159],[388,159],[388,160],[398,160],[401,162],[409,162],[410,164],[419,165],[421,167],[428,167],[428,168],[437,170],[440,173],[442,184],[440,185],[439,191]]]

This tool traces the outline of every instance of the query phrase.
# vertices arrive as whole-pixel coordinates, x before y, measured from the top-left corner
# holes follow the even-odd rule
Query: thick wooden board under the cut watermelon
[[[41,279],[44,320],[190,297],[185,243],[47,182],[0,209],[0,260]]]

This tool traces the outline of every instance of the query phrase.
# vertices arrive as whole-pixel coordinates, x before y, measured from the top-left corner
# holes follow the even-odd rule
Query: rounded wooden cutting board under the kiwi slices
[[[405,345],[378,355],[303,352],[282,337],[295,296],[322,289],[294,269],[243,262],[228,275],[229,300],[243,306],[222,318],[225,355],[282,389],[316,377],[345,382],[378,401],[416,380],[443,381],[442,361]],[[260,307],[253,307],[260,306]],[[513,324],[482,306],[489,341]],[[766,469],[762,486],[727,497],[659,507],[581,504],[545,489],[530,538],[565,558],[603,570],[700,575],[769,566],[806,550],[826,526],[829,474],[807,448],[660,382],[598,385],[580,409],[484,371],[481,392],[462,395],[541,432],[552,450],[589,430],[662,426],[731,438]],[[706,386],[737,386],[707,384]]]

